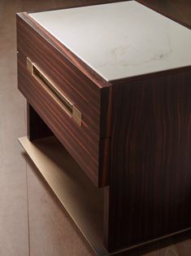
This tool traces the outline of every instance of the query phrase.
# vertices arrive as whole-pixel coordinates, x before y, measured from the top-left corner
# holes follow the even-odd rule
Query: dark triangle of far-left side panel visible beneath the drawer
[[[53,135],[34,108],[27,103],[27,135],[30,141]]]

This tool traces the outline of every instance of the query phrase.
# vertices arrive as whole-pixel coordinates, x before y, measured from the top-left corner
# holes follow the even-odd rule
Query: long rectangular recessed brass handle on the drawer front
[[[41,68],[34,64],[27,57],[27,69],[28,71],[40,82],[41,86],[43,86],[46,91],[56,100],[59,105],[63,108],[63,110],[73,119],[76,123],[81,126],[81,113],[80,111],[72,104],[72,102],[67,99],[65,95],[54,85],[45,73],[42,72]]]

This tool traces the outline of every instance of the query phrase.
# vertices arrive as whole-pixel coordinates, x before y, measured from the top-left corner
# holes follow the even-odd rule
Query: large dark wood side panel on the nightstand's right
[[[191,72],[113,86],[110,250],[191,227]]]

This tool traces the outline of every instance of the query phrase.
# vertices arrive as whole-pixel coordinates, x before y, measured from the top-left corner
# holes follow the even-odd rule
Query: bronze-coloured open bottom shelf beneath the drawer
[[[108,254],[103,246],[103,189],[91,183],[54,136],[33,142],[22,137],[19,141],[94,252]]]

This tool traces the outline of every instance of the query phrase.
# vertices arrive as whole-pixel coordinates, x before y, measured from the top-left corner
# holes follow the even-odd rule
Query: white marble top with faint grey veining
[[[30,16],[107,81],[191,65],[191,30],[136,1]]]

